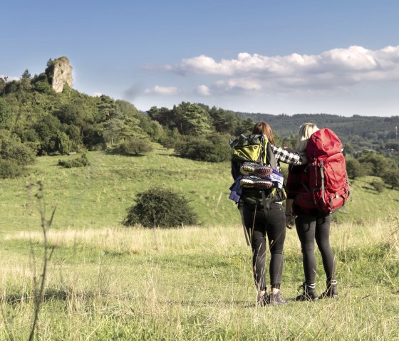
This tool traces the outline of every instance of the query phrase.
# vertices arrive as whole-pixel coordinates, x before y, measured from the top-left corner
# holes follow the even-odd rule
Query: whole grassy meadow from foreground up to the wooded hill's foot
[[[46,216],[56,213],[36,340],[399,340],[398,191],[378,194],[373,178],[356,179],[352,201],[334,214],[338,300],[294,301],[303,271],[291,230],[281,287],[289,304],[260,308],[252,253],[227,199],[229,164],[165,149],[90,152],[90,167],[77,169],[56,166],[64,158],[41,157],[28,177],[1,180],[0,340],[28,340],[31,331],[43,234],[26,185],[38,180]],[[184,194],[199,226],[121,226],[135,194],[152,186]]]

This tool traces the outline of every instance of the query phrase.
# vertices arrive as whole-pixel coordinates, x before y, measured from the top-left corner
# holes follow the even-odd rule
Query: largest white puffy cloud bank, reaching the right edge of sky
[[[375,51],[350,46],[318,55],[261,56],[243,52],[237,58],[221,61],[202,55],[162,68],[183,75],[219,76],[222,78],[219,82],[207,85],[219,90],[279,90],[290,87],[317,90],[373,80],[399,80],[399,46]]]

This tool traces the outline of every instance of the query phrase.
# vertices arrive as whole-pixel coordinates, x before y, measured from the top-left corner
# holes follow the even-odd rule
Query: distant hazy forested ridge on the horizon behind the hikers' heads
[[[331,128],[343,142],[351,142],[356,147],[380,149],[388,140],[395,141],[395,127],[399,127],[399,116],[377,117],[359,116],[344,117],[328,114],[270,115],[260,113],[237,112],[240,117],[251,117],[254,121],[265,121],[279,132],[289,137],[296,135],[299,126],[304,122],[313,122],[318,127]],[[357,149],[357,148],[356,148]]]

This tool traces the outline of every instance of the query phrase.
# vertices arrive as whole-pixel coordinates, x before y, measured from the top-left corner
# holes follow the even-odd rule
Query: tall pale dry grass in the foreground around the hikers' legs
[[[295,302],[303,278],[295,231],[282,290],[289,305],[259,308],[240,226],[56,231],[38,340],[398,340],[398,225],[335,225],[338,300]],[[29,243],[9,233],[1,251],[0,340],[26,340],[33,306]],[[324,288],[321,259],[318,290]],[[13,340],[9,338],[9,340]]]

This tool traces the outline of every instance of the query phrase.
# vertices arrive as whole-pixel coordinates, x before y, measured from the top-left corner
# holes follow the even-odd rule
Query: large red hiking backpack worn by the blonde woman
[[[341,140],[328,128],[311,135],[306,146],[308,164],[301,175],[301,184],[306,192],[296,196],[295,204],[306,209],[333,212],[346,203],[351,189],[342,150]]]

